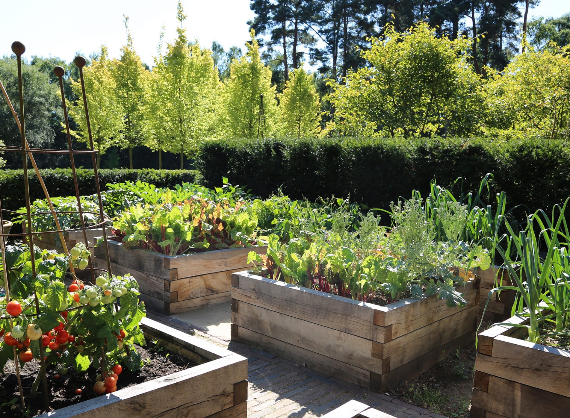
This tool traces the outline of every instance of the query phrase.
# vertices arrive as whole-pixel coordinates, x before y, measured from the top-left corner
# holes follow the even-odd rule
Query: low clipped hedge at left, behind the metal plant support
[[[74,196],[75,187],[71,169],[46,169],[40,170],[47,191],[50,196]],[[93,170],[76,170],[79,191],[82,195],[90,195],[96,192]],[[26,196],[23,186],[23,170],[0,170],[0,199],[2,208],[18,210],[26,205]],[[125,169],[102,169],[99,170],[99,183],[101,190],[105,190],[107,183],[120,183],[124,181],[144,181],[157,187],[174,186],[183,182],[201,182],[196,170],[125,170]],[[33,169],[28,169],[28,181],[30,184],[30,199],[44,199],[42,187]],[[6,216],[10,219],[11,216]]]

